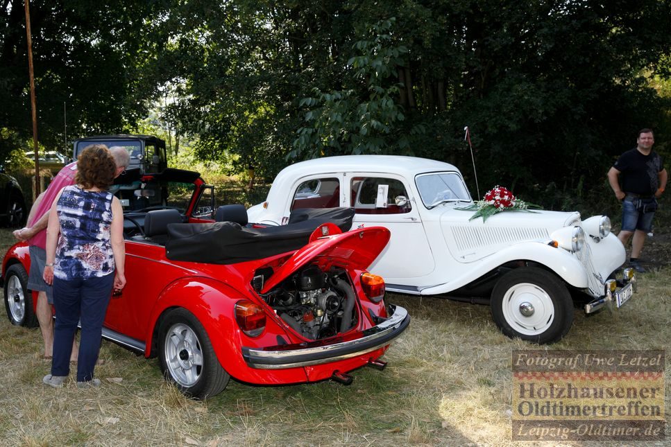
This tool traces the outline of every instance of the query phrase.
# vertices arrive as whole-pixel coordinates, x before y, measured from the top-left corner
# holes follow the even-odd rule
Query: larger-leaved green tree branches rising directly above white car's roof
[[[357,55],[347,62],[351,88],[303,98],[299,106],[311,107],[305,112],[305,127],[287,159],[316,158],[343,154],[409,154],[409,141],[402,128],[405,114],[396,101],[398,82],[389,80],[407,54],[407,48],[396,45],[390,34],[396,19],[380,21],[366,30],[363,40],[353,45]],[[365,91],[366,94],[359,94]],[[411,132],[421,132],[413,129]]]

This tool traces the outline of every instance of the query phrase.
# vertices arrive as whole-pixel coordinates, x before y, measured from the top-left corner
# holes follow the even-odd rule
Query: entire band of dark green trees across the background
[[[0,10],[0,155],[31,137],[22,3]],[[394,153],[557,207],[640,128],[671,135],[668,1],[33,1],[40,141],[137,130],[171,155],[272,179],[287,162]],[[152,116],[153,115],[153,116]],[[475,191],[472,191],[475,193]],[[573,194],[575,195],[575,194]]]

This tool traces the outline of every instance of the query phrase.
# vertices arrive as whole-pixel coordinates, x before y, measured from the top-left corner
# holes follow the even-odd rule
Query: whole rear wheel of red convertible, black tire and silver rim
[[[171,310],[159,328],[163,376],[189,397],[205,399],[226,388],[230,376],[219,364],[201,322],[186,309]]]

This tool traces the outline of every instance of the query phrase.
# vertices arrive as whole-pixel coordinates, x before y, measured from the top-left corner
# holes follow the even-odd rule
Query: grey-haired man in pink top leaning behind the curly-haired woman
[[[110,148],[119,177],[128,168],[130,155],[119,146]],[[28,214],[28,226],[14,231],[17,240],[26,240],[30,245],[31,271],[28,273],[28,289],[37,290],[37,321],[40,323],[42,338],[44,339],[44,358],[53,356],[53,292],[51,286],[44,282],[44,264],[46,263],[46,225],[49,223],[49,210],[58,192],[65,186],[74,185],[77,174],[77,162],[63,167],[53,178],[49,187],[37,196],[31,212]],[[76,342],[75,342],[76,343]],[[77,360],[76,344],[73,345],[71,360]]]

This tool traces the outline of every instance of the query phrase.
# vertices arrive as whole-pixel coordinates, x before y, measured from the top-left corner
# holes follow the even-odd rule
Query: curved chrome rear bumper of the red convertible
[[[391,340],[405,331],[410,323],[410,316],[405,308],[393,305],[389,308],[393,314],[377,326],[363,331],[360,338],[332,344],[325,344],[319,340],[265,349],[243,347],[242,357],[247,365],[255,369],[286,369],[322,365],[362,356],[387,346]]]

